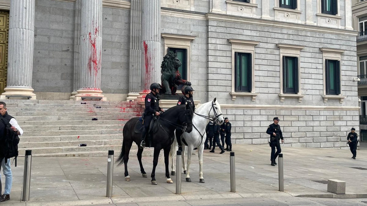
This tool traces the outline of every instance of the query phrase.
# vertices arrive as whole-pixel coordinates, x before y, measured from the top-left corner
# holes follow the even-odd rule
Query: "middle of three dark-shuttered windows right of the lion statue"
[[[283,56],[283,93],[298,93],[298,57]]]

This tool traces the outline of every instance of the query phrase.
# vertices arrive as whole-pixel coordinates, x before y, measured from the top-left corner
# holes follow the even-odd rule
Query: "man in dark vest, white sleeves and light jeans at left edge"
[[[4,157],[1,158],[2,159],[1,166],[3,168],[3,174],[5,176],[5,188],[4,188],[4,194],[1,194],[0,192],[0,195],[1,195],[0,202],[5,202],[10,199],[10,190],[11,190],[11,185],[12,185],[12,180],[13,180],[13,176],[12,176],[11,168],[10,168],[10,158],[12,157],[17,158],[18,156],[18,143],[19,143],[18,136],[22,136],[23,130],[18,125],[17,120],[14,117],[8,115],[5,102],[0,102],[0,114],[2,117],[0,122],[3,123],[0,125],[1,126],[5,125],[4,132],[0,134],[7,133],[7,135],[4,135],[4,136],[6,136],[7,138],[7,142],[5,146],[8,147],[4,149],[6,151],[6,154],[4,154]],[[9,144],[9,141],[11,141],[11,144]],[[15,160],[15,162],[17,161]],[[17,166],[17,163],[15,163],[15,166]],[[1,178],[1,173],[0,173],[0,178]]]

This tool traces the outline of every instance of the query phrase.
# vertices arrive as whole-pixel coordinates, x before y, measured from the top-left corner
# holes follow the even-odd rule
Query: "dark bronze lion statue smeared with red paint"
[[[173,52],[168,52],[166,56],[163,57],[161,65],[161,81],[162,89],[160,94],[164,95],[177,95],[177,86],[181,84],[186,84],[191,86],[189,81],[183,80],[178,68],[181,66],[180,60],[177,58],[177,54]]]

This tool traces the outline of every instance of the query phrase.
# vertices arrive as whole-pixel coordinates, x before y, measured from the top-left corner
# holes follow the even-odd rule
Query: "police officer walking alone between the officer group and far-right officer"
[[[266,133],[270,135],[269,145],[272,148],[272,153],[270,156],[270,161],[272,161],[271,166],[275,166],[277,163],[275,159],[278,157],[278,154],[281,152],[279,140],[281,139],[281,143],[284,143],[283,133],[281,132],[279,123],[279,118],[273,118],[274,123],[268,126]],[[275,152],[276,148],[276,152]]]

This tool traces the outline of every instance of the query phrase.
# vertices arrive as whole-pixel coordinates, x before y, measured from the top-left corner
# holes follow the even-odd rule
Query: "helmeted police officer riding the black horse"
[[[163,108],[159,107],[159,89],[161,89],[160,84],[153,83],[150,85],[151,92],[145,96],[145,111],[144,111],[144,128],[141,134],[141,143],[140,148],[143,149],[145,147],[145,136],[149,130],[150,122],[153,119],[153,116],[159,116],[160,111],[164,111]]]

